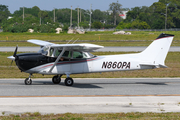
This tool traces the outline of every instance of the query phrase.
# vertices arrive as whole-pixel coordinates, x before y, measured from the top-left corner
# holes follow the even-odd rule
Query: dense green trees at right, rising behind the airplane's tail
[[[167,15],[167,16],[166,16]],[[180,1],[159,0],[150,7],[134,7],[117,29],[180,28]]]

